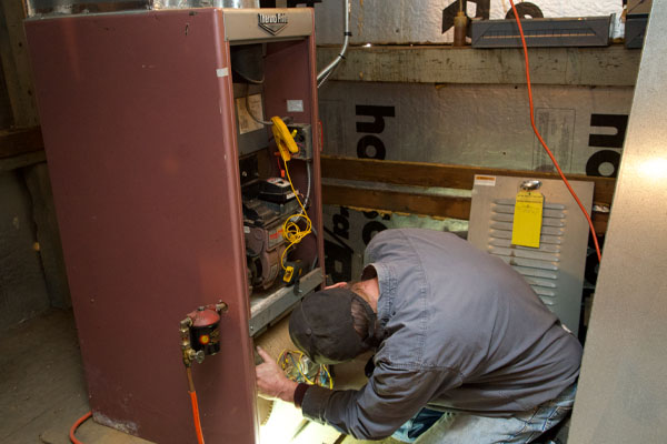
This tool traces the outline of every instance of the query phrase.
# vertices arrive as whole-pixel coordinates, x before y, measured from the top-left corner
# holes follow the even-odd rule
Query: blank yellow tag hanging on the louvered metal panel
[[[519,191],[515,205],[515,220],[511,229],[511,243],[539,248],[541,213],[545,198],[538,191]]]

